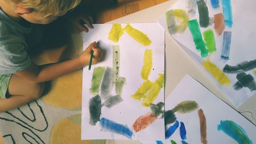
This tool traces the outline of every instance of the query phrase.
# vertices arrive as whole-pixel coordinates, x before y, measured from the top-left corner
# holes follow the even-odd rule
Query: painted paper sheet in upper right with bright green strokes
[[[160,25],[196,60],[235,107],[256,92],[255,7],[253,0],[179,0],[159,18]],[[206,26],[205,21],[208,21]]]

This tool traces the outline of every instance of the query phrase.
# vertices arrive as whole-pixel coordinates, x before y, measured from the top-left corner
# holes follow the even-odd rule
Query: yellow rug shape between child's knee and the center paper
[[[69,110],[75,110],[82,104],[82,72],[71,74],[51,81],[50,91],[42,97],[46,103]]]

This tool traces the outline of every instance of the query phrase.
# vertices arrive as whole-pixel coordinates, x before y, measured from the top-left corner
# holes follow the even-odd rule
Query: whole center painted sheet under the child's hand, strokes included
[[[83,33],[84,49],[91,42],[97,41],[103,57],[101,62],[92,65],[91,70],[88,70],[88,66],[83,68],[81,139],[153,140],[164,137],[164,119],[160,116],[152,117],[150,107],[143,106],[146,105],[145,99],[154,94],[156,99],[153,104],[164,102],[164,87],[159,84],[164,82],[164,29],[158,23],[130,23],[129,29],[126,26],[127,23],[99,24],[94,25],[95,28],[89,33]],[[119,33],[121,29],[125,30],[122,35]],[[128,33],[132,33],[133,37]],[[152,42],[145,42],[148,39],[141,40],[145,37],[144,34]],[[116,39],[117,35],[119,39]],[[136,36],[139,36],[137,40],[134,38]],[[145,52],[148,53],[145,55]],[[148,78],[143,77],[147,79],[143,80],[142,68],[146,69],[148,66]],[[96,70],[97,73],[103,71],[102,78],[93,76]],[[115,80],[121,78],[118,82],[123,83],[123,87],[116,87],[118,82],[108,79],[110,77],[116,77]],[[96,83],[92,79],[97,78],[101,81],[99,91],[92,94],[92,83]],[[112,82],[108,83],[104,79]],[[131,97],[145,82],[153,86],[140,89],[143,96],[141,100]],[[112,87],[109,93],[103,90],[103,84]]]

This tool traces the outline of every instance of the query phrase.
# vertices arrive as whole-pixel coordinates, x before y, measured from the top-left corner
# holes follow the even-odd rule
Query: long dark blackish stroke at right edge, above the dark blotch
[[[239,63],[236,66],[230,66],[226,64],[223,68],[223,72],[228,74],[238,74],[245,71],[249,71],[254,68],[256,68],[256,59],[249,62],[245,61],[245,62]]]

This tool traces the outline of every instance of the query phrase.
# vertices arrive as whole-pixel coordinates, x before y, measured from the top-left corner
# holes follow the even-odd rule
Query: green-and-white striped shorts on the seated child
[[[0,75],[0,98],[6,99],[6,92],[9,86],[9,82],[12,74]]]

